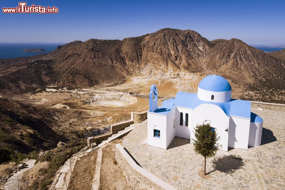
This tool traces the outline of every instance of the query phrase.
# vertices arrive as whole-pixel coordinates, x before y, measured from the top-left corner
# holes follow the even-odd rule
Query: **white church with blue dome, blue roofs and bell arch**
[[[231,98],[229,82],[209,75],[198,85],[198,94],[178,92],[158,107],[158,89],[152,84],[147,112],[147,144],[167,149],[175,136],[194,139],[197,124],[211,124],[220,136],[221,150],[259,146],[263,119],[251,112],[251,102]]]

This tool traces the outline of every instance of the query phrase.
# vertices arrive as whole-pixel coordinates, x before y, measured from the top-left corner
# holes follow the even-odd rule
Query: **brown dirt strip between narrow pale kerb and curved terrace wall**
[[[132,187],[127,183],[121,168],[115,160],[115,144],[121,142],[121,139],[112,141],[102,150],[103,154],[99,190],[132,189]]]

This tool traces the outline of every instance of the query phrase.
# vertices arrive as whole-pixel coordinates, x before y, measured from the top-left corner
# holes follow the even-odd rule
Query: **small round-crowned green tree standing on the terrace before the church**
[[[203,176],[206,175],[206,158],[215,156],[220,147],[218,141],[220,137],[211,127],[210,123],[197,124],[194,132],[196,140],[192,139],[194,151],[196,154],[201,154],[204,157]]]

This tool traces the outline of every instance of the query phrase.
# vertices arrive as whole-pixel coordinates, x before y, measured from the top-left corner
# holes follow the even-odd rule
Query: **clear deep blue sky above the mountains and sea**
[[[16,7],[19,1],[0,1]],[[208,40],[285,45],[285,1],[27,1],[57,14],[0,13],[0,42],[71,42],[141,36],[162,28],[191,29]]]

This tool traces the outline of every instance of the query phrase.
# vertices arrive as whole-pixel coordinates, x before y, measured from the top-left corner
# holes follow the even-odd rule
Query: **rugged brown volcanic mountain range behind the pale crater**
[[[30,72],[27,72],[27,67],[25,73],[19,70],[18,74],[6,75],[5,79],[8,80],[0,77],[3,84],[1,88],[9,86],[15,89],[27,83],[35,88],[54,81],[64,86],[87,87],[119,81],[134,73],[184,71],[211,74],[215,69],[217,74],[227,79],[260,88],[260,84],[269,88],[274,80],[284,83],[285,79],[284,61],[248,46],[241,40],[218,39],[210,42],[193,30],[170,28],[122,41],[74,41],[50,53],[25,58],[39,59],[49,61],[41,61],[41,66],[30,66]],[[7,62],[10,61],[2,60],[2,63]],[[40,84],[33,81],[35,77],[36,81],[41,81]],[[19,80],[23,84],[15,85],[14,82]],[[273,88],[280,88],[282,84]]]

